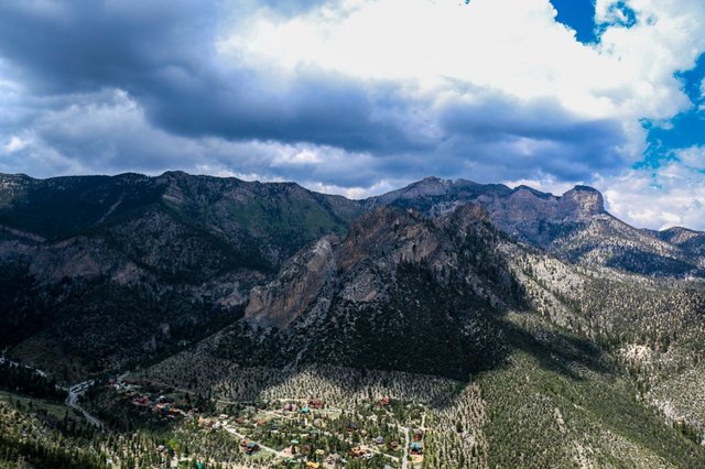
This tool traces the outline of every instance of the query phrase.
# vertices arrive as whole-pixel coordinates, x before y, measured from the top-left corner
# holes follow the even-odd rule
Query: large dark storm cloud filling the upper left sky
[[[78,0],[61,7],[7,1],[0,3],[0,52],[37,92],[124,89],[153,123],[184,135],[376,152],[423,146],[393,123],[375,120],[373,95],[389,99],[384,87],[370,92],[349,79],[319,75],[276,91],[268,89],[267,76],[218,65],[217,13],[186,0]]]

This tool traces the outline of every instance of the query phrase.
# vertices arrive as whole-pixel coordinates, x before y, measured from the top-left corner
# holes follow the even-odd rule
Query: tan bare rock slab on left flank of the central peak
[[[286,328],[318,295],[334,269],[330,239],[323,238],[296,254],[275,281],[252,288],[245,318],[262,327]]]

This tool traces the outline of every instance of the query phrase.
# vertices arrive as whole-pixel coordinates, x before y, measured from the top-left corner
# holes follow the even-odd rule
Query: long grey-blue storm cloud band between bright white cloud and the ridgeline
[[[319,3],[243,1],[226,10],[195,0],[3,0],[0,56],[28,90],[13,105],[26,109],[15,111],[12,131],[30,129],[61,155],[51,166],[58,172],[72,171],[70,162],[101,172],[217,166],[369,186],[430,174],[579,179],[618,166],[620,126],[582,121],[554,102],[475,89],[481,99],[437,107],[397,84],[308,72],[282,85],[217,56],[224,18],[262,6],[295,14]],[[274,150],[248,154],[236,145],[252,141],[322,145],[336,156],[281,164]]]

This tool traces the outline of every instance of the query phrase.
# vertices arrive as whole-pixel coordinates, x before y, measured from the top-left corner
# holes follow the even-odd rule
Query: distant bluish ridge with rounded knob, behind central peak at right
[[[576,186],[560,197],[527,186],[481,185],[464,179],[425,178],[367,200],[368,207],[393,205],[440,214],[459,204],[485,208],[492,222],[512,238],[570,262],[605,265],[657,276],[703,276],[698,248],[674,243],[668,233],[633,228],[605,210],[594,188]],[[699,239],[699,244],[697,239]],[[703,233],[693,246],[702,248]]]

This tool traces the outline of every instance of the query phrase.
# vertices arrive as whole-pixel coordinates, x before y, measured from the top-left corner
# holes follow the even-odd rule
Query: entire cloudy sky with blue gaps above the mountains
[[[586,184],[705,229],[704,54],[702,0],[2,0],[0,172]]]

